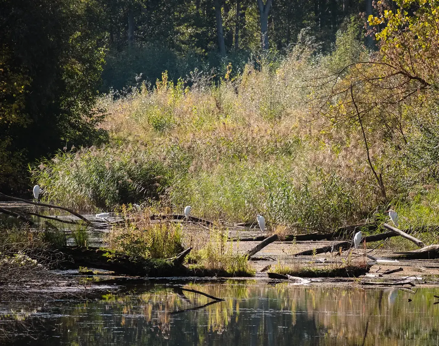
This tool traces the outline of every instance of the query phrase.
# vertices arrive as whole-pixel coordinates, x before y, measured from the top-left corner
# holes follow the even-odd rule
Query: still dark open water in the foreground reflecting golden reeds
[[[25,333],[10,338],[21,346],[439,345],[433,297],[439,289],[413,294],[239,280],[172,284],[225,301],[209,305],[205,296],[148,281],[88,300],[1,299],[0,322],[14,318],[40,330],[32,334],[36,339]]]

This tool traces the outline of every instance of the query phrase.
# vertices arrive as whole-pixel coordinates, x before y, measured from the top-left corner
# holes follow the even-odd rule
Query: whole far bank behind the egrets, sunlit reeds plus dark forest
[[[438,224],[439,2],[1,5],[0,190],[332,230]]]

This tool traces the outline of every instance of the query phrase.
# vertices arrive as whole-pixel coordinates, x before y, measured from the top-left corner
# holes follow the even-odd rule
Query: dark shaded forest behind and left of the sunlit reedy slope
[[[330,52],[351,18],[366,42],[371,11],[349,0],[2,1],[0,189],[27,188],[27,164],[56,150],[105,142],[101,93],[151,87],[164,71],[217,82],[229,63],[237,75],[300,40]]]

